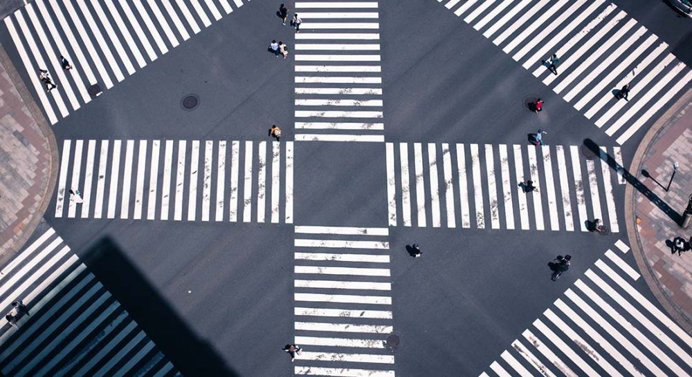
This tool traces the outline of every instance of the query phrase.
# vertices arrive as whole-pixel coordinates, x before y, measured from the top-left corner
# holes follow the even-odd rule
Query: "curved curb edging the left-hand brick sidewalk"
[[[17,72],[15,65],[12,64],[12,60],[10,60],[4,46],[0,46],[0,63],[5,66],[5,70],[8,73],[10,80],[12,80],[12,84],[15,85],[17,92],[19,92],[19,97],[21,97],[22,101],[24,101],[24,104],[26,104],[26,107],[29,109],[29,113],[31,113],[31,116],[38,124],[39,129],[43,133],[44,137],[48,140],[48,149],[50,149],[48,156],[48,159],[50,160],[50,164],[48,164],[48,182],[44,192],[41,195],[40,204],[35,213],[33,213],[33,218],[26,225],[24,234],[21,235],[21,237],[17,240],[15,246],[12,247],[8,252],[0,255],[0,265],[2,265],[10,260],[10,258],[12,258],[24,247],[26,241],[31,237],[31,235],[33,235],[34,231],[39,226],[39,223],[43,220],[43,215],[46,213],[46,209],[48,209],[48,204],[51,202],[51,196],[53,195],[55,185],[57,184],[58,153],[57,141],[55,140],[53,129],[48,125],[48,122],[46,122],[46,117],[44,117],[41,109],[39,109],[38,105],[34,101],[28,88],[26,88],[24,85],[24,81],[21,79],[19,72]]]

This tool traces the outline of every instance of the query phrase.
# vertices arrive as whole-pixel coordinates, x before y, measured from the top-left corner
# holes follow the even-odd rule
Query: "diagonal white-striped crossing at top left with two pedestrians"
[[[94,84],[112,88],[234,8],[228,0],[203,3],[37,0],[4,23],[46,117],[55,124],[91,101]],[[233,4],[237,9],[243,1]],[[73,69],[62,68],[61,56]],[[39,69],[48,70],[59,87],[46,93]]]

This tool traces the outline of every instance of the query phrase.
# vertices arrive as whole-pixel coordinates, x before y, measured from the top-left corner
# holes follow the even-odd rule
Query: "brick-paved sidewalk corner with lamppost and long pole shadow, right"
[[[680,167],[666,192],[661,186],[670,182],[676,161]],[[660,199],[659,203],[652,201],[627,185],[625,211],[632,253],[641,275],[668,314],[692,332],[692,251],[677,255],[666,245],[677,236],[685,240],[692,236],[692,226],[682,229],[674,220],[681,218],[692,195],[692,90],[644,136],[629,172]],[[671,212],[664,211],[666,205]]]

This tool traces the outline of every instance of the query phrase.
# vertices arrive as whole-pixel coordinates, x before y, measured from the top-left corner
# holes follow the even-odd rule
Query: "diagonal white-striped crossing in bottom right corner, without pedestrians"
[[[639,273],[618,254],[608,249],[480,376],[690,376],[692,338],[637,290]]]

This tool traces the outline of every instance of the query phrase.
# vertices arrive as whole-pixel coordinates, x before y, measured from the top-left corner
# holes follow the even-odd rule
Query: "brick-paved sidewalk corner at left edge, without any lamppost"
[[[36,229],[56,181],[53,131],[0,47],[0,264]]]

